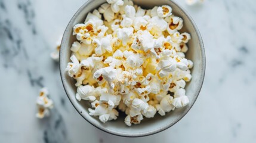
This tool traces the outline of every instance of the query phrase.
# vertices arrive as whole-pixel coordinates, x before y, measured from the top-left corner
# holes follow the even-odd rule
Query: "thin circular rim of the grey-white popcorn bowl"
[[[73,15],[73,17],[70,19],[69,23],[67,24],[67,27],[66,29],[64,30],[64,34],[63,34],[63,38],[64,38],[64,35],[66,35],[67,31],[69,30],[68,28],[70,27],[70,24],[72,24],[72,22],[75,20],[75,17],[77,17],[77,15],[79,15],[81,13],[82,10],[84,10],[85,7],[87,7],[87,5],[89,5],[92,1],[94,0],[88,0],[87,2],[85,2],[79,9],[78,11],[76,11],[76,13]],[[200,77],[200,85],[198,86],[198,89],[196,90],[195,92],[195,101],[192,102],[192,105],[189,107],[189,109],[186,111],[186,113],[182,114],[177,120],[175,120],[175,122],[165,126],[164,128],[160,128],[160,129],[156,129],[156,130],[152,130],[152,131],[149,131],[149,132],[143,132],[143,133],[133,133],[133,134],[128,134],[128,133],[121,133],[121,132],[115,132],[114,130],[108,130],[106,128],[104,128],[103,126],[98,126],[97,124],[95,124],[94,122],[90,122],[90,120],[88,120],[83,114],[80,113],[80,111],[78,110],[78,107],[73,104],[72,100],[70,99],[70,95],[69,95],[69,92],[67,91],[66,89],[66,85],[64,84],[64,77],[62,75],[62,73],[65,73],[65,70],[64,69],[61,69],[61,57],[63,54],[63,48],[62,45],[63,45],[63,39],[61,39],[61,47],[60,47],[60,53],[59,53],[59,57],[60,57],[60,60],[59,60],[59,69],[60,69],[60,77],[61,77],[61,83],[63,84],[63,88],[64,88],[64,91],[66,92],[66,95],[67,97],[69,98],[69,101],[71,102],[71,104],[73,105],[73,107],[75,108],[75,110],[85,119],[87,120],[87,122],[89,122],[91,125],[93,125],[94,127],[100,129],[100,130],[103,130],[104,132],[107,132],[107,133],[110,133],[112,135],[117,135],[117,136],[124,136],[124,137],[140,137],[140,136],[149,136],[149,135],[153,135],[155,133],[159,133],[159,132],[162,132],[163,130],[166,130],[168,128],[170,128],[171,126],[175,125],[177,122],[179,122],[187,113],[189,113],[190,109],[193,107],[193,105],[195,104],[198,96],[199,96],[199,93],[202,89],[202,85],[203,85],[203,80],[205,78],[205,69],[206,69],[206,57],[205,57],[205,48],[204,48],[204,45],[203,45],[203,40],[202,40],[202,36],[201,36],[201,33],[199,32],[199,29],[198,27],[196,26],[196,23],[195,21],[192,19],[192,17],[187,13],[187,11],[181,7],[179,4],[177,4],[177,2],[175,1],[171,1],[171,0],[168,0],[170,2],[172,2],[177,8],[179,8],[181,11],[183,11],[183,13],[186,15],[187,18],[189,18],[189,20],[191,21],[192,23],[192,26],[194,27],[195,29],[195,32],[196,32],[196,35],[198,36],[198,39],[199,39],[199,45],[200,45],[200,49],[201,49],[201,52],[202,52],[202,76]]]

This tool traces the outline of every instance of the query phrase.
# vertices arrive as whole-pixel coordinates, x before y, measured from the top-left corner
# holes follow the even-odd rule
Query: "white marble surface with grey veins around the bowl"
[[[55,42],[85,0],[0,0],[0,142],[256,142],[256,1],[206,0],[187,6],[201,31],[206,76],[192,110],[143,138],[109,135],[86,122],[66,97]],[[50,89],[55,108],[36,119],[35,100]]]

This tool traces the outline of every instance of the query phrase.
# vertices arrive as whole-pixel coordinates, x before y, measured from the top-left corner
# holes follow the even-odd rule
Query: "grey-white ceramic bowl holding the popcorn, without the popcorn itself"
[[[140,125],[132,125],[131,127],[126,126],[124,123],[125,115],[122,113],[119,113],[117,120],[101,123],[100,120],[98,120],[98,117],[89,115],[88,108],[91,107],[91,105],[88,101],[79,102],[76,100],[75,80],[67,75],[65,68],[67,63],[70,61],[70,47],[72,43],[76,41],[76,36],[72,35],[73,26],[75,26],[77,23],[83,23],[87,13],[95,8],[98,8],[104,2],[106,2],[106,0],[87,1],[72,17],[64,32],[60,48],[60,74],[67,97],[69,97],[70,102],[72,102],[78,113],[81,114],[85,120],[98,129],[112,133],[113,135],[135,137],[152,135],[153,133],[161,132],[162,130],[171,127],[183,116],[185,116],[185,114],[195,103],[201,90],[203,78],[205,76],[205,50],[203,48],[203,42],[198,28],[190,15],[173,1],[134,0],[134,4],[140,5],[142,8],[153,8],[154,6],[161,6],[165,4],[170,5],[172,7],[172,13],[183,18],[184,27],[181,29],[181,32],[188,32],[192,36],[192,39],[188,43],[189,51],[186,53],[186,58],[194,62],[194,67],[192,69],[192,80],[187,83],[186,86],[186,95],[189,97],[190,103],[186,107],[177,108],[174,111],[167,113],[166,116],[159,116],[157,113],[153,119],[145,118],[141,121]]]

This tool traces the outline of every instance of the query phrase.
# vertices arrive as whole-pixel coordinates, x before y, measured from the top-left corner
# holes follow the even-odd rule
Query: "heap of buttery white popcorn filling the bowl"
[[[182,18],[168,5],[107,2],[73,27],[78,41],[66,71],[77,81],[76,99],[91,102],[90,115],[104,123],[125,112],[128,126],[186,106],[193,63],[184,54],[190,35],[178,32]]]

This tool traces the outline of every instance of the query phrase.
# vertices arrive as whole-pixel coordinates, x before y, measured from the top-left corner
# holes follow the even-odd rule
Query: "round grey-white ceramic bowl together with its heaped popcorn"
[[[89,0],[61,42],[67,97],[89,123],[119,136],[146,136],[177,123],[205,75],[192,18],[173,1]]]

